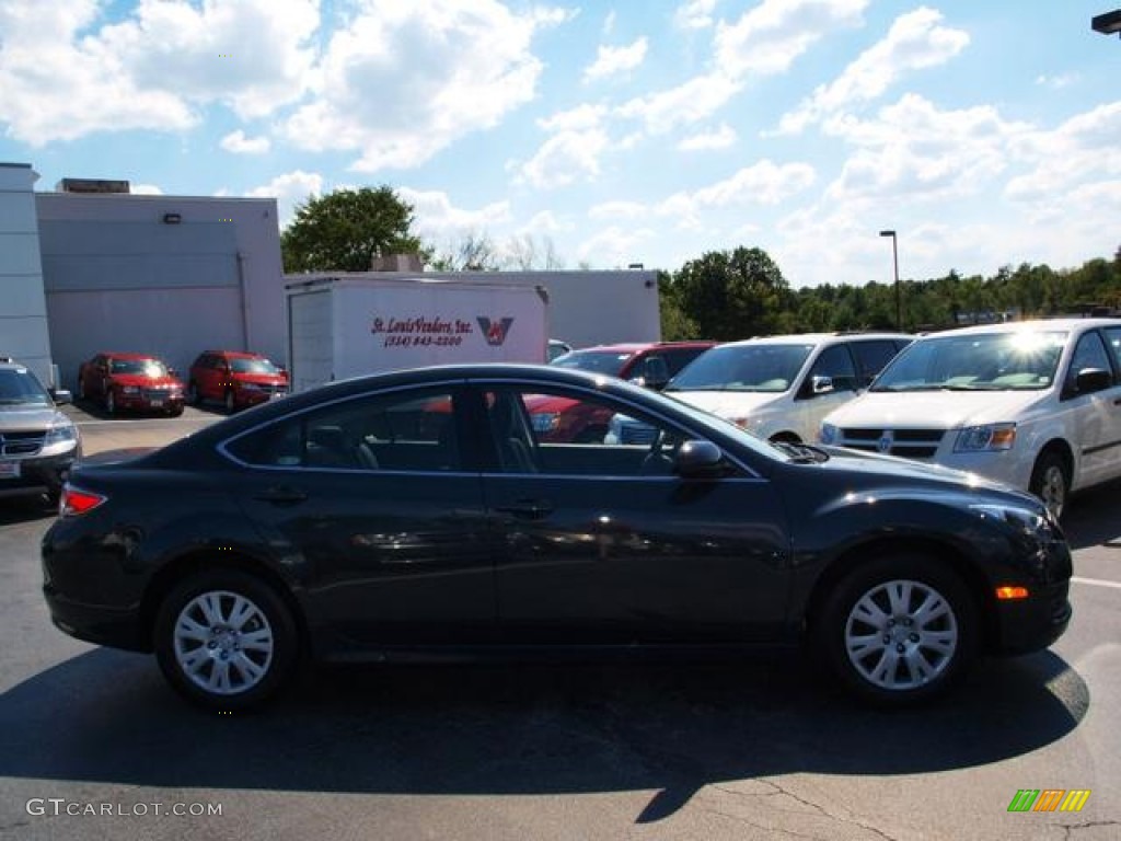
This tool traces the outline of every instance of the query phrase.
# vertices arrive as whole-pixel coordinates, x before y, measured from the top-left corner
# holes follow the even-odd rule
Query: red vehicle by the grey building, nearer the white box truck
[[[237,412],[288,394],[288,373],[259,353],[205,351],[187,375],[187,400],[221,403]]]

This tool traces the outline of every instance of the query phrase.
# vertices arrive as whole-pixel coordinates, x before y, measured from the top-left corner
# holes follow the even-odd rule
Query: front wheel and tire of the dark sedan
[[[817,651],[834,675],[883,706],[944,693],[976,656],[976,606],[961,577],[926,555],[883,555],[862,564],[832,588],[821,616],[810,619]]]

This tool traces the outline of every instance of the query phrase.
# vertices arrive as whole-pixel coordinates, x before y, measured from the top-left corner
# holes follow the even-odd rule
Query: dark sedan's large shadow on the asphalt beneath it
[[[149,657],[95,649],[0,695],[0,776],[378,794],[702,787],[787,773],[904,775],[997,763],[1075,729],[1086,684],[1045,651],[978,668],[907,711],[850,701],[798,658],[704,664],[316,669],[256,714],[183,703]]]

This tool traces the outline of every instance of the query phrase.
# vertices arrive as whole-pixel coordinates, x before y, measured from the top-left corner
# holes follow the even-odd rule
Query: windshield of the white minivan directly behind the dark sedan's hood
[[[725,344],[697,357],[667,391],[786,391],[812,344]]]

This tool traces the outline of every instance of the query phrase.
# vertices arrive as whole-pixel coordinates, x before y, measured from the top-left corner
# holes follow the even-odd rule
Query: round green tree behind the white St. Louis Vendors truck
[[[280,234],[285,271],[369,271],[376,257],[424,253],[413,221],[386,185],[312,196]]]

